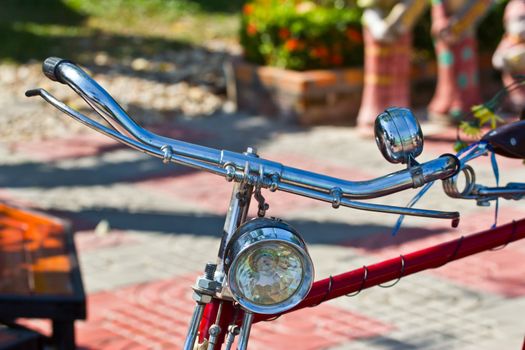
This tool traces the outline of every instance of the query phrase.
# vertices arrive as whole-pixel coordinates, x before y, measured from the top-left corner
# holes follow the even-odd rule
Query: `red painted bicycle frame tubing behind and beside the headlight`
[[[415,252],[400,255],[377,264],[345,272],[314,283],[308,296],[296,307],[282,314],[297,311],[305,307],[315,307],[319,304],[341,297],[349,293],[358,293],[363,289],[379,284],[399,280],[427,269],[439,268],[454,260],[494,249],[525,238],[525,219],[513,221],[493,229],[485,230],[458,239],[434,245]],[[217,314],[221,309],[220,320]],[[206,305],[199,327],[199,341],[209,339],[210,326],[217,323],[226,330],[230,324],[240,324],[242,310],[235,308],[232,302],[213,300]],[[282,314],[255,315],[254,322],[275,319]],[[224,342],[224,333],[219,337],[215,349],[220,349]]]

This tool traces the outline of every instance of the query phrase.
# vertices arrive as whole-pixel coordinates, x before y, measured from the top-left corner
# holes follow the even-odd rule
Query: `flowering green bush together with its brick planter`
[[[301,124],[352,123],[362,89],[361,10],[352,2],[256,0],[244,6],[244,58],[232,62],[239,108]]]

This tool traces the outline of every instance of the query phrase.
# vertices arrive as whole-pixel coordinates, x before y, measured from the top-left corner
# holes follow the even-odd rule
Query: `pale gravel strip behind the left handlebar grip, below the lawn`
[[[147,125],[231,110],[222,68],[229,55],[227,51],[193,48],[117,61],[99,52],[86,68],[130,115]],[[24,96],[27,89],[42,87],[76,109],[89,110],[70,89],[47,79],[40,67],[40,62],[0,64],[0,142],[86,131],[81,124],[46,107],[45,102]]]

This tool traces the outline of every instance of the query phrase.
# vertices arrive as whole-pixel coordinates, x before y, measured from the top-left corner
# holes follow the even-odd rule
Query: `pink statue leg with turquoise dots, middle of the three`
[[[432,35],[437,86],[428,106],[431,119],[451,123],[481,100],[476,24],[491,0],[432,0]]]

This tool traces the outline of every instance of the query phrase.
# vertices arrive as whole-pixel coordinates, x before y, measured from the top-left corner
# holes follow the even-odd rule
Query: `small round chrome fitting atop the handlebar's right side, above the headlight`
[[[377,147],[390,163],[409,164],[423,151],[423,132],[408,108],[388,108],[377,116]]]

